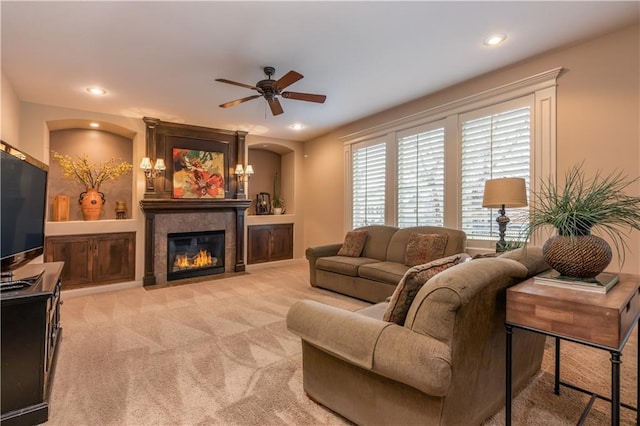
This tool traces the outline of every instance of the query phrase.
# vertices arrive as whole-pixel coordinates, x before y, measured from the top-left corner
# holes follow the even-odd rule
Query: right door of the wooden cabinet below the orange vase
[[[104,234],[96,236],[94,241],[94,282],[135,278],[135,233]]]

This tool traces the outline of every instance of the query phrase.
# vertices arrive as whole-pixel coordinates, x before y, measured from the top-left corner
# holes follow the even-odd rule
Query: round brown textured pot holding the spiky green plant
[[[542,255],[561,275],[581,279],[600,274],[612,258],[609,244],[596,235],[556,235],[544,243]]]

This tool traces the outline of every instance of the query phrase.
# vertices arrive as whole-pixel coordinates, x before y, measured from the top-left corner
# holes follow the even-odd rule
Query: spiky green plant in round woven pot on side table
[[[527,236],[547,226],[557,230],[544,243],[543,255],[564,277],[591,279],[611,262],[611,247],[591,231],[609,236],[622,266],[629,232],[640,230],[640,197],[625,193],[638,179],[629,180],[622,172],[608,176],[596,172],[586,180],[579,164],[565,174],[562,190],[551,178],[543,180],[534,194]]]

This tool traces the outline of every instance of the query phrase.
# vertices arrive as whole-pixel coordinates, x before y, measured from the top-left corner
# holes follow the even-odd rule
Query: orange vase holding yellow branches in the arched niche
[[[100,219],[105,202],[104,194],[100,192],[100,185],[107,180],[119,178],[133,168],[133,165],[126,161],[116,164],[115,158],[91,164],[87,154],[78,155],[74,159],[55,151],[52,153],[53,159],[60,164],[64,176],[79,182],[86,188],[78,199],[84,220]]]

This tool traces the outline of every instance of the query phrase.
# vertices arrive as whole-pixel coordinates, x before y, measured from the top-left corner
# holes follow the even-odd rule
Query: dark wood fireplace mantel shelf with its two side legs
[[[182,213],[235,213],[235,272],[243,272],[244,264],[244,218],[250,200],[241,199],[161,199],[145,198],[140,201],[140,208],[145,216],[144,238],[144,277],[143,285],[156,284],[154,249],[156,215]]]

